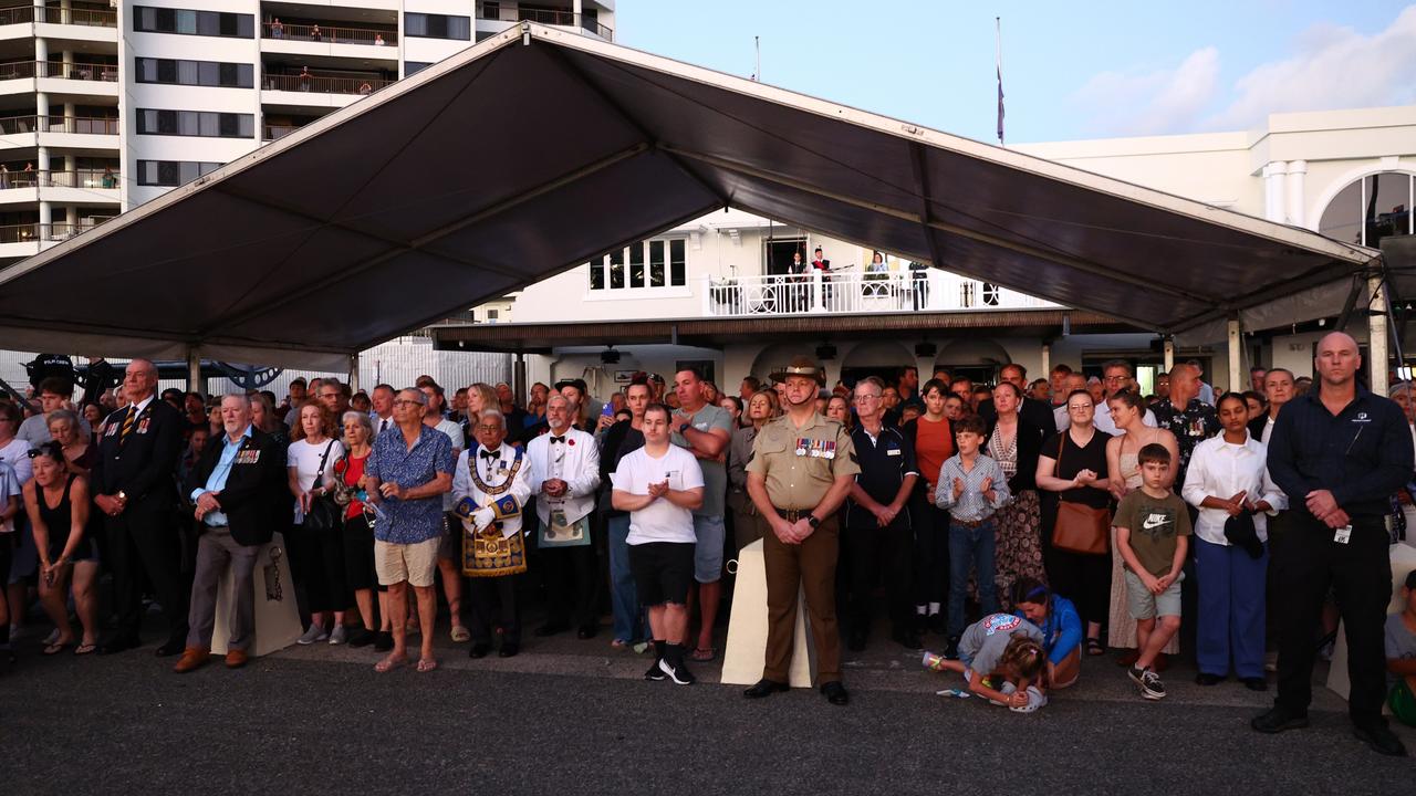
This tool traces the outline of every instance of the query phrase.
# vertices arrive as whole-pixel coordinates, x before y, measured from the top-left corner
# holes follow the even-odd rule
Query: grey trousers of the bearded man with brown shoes
[[[202,528],[198,528],[202,530]],[[191,612],[187,615],[187,646],[211,649],[211,633],[217,623],[217,586],[221,574],[231,564],[232,596],[227,627],[231,637],[227,649],[245,650],[255,630],[256,596],[253,574],[261,545],[241,544],[231,538],[231,528],[208,527],[197,537],[197,574],[191,584]]]

